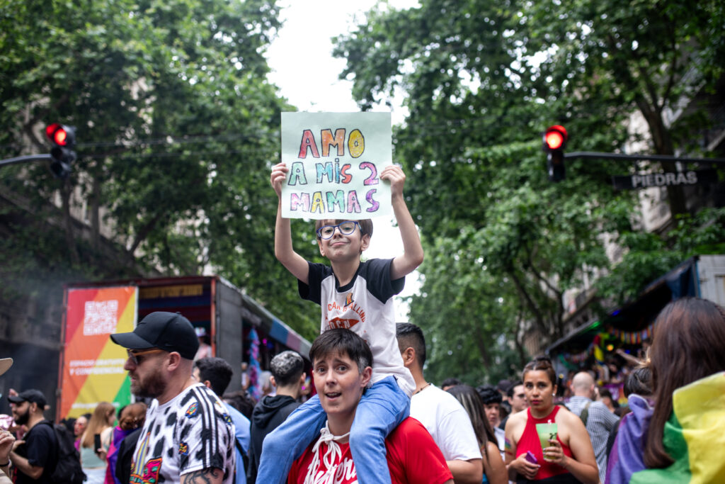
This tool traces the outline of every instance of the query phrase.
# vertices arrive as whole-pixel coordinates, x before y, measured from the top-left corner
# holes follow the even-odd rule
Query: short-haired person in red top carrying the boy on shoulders
[[[326,423],[319,438],[292,464],[287,483],[356,484],[349,432],[370,383],[373,355],[354,332],[331,329],[312,343],[310,359]],[[381,475],[380,482],[453,484],[443,454],[418,420],[403,420],[385,439],[385,446],[385,479]]]

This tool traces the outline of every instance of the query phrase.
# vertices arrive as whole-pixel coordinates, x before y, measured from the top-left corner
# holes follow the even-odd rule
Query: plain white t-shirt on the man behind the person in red
[[[410,398],[410,417],[426,427],[447,461],[481,459],[471,418],[450,393],[429,384]]]

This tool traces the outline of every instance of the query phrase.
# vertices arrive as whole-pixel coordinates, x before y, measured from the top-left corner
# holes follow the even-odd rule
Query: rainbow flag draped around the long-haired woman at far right
[[[725,372],[697,380],[672,395],[673,411],[663,443],[674,464],[645,469],[644,438],[652,409],[631,395],[607,468],[611,484],[725,483]]]

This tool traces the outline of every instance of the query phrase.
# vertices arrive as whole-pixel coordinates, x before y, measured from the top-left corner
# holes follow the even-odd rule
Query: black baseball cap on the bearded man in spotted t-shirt
[[[144,350],[160,348],[176,351],[181,358],[193,360],[199,349],[199,337],[194,327],[180,313],[157,311],[141,319],[130,333],[111,335],[111,340],[123,348]]]

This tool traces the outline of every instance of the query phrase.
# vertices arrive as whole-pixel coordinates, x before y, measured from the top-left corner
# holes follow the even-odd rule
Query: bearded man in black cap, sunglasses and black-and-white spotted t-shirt
[[[234,425],[223,402],[191,377],[199,340],[179,313],[150,313],[130,333],[111,335],[128,350],[131,392],[154,398],[136,443],[133,483],[234,481]]]

